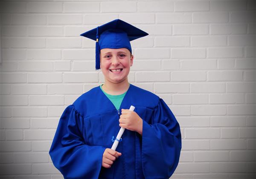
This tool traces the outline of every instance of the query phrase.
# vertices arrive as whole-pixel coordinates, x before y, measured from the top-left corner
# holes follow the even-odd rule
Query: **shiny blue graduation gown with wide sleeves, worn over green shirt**
[[[49,154],[65,179],[168,179],[181,150],[180,126],[157,95],[130,85],[120,109],[135,106],[143,119],[143,135],[125,129],[111,168],[102,155],[119,132],[119,115],[100,87],[67,106],[58,123]]]

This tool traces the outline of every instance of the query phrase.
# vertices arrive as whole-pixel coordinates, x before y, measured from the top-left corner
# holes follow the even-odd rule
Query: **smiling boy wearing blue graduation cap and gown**
[[[81,34],[96,40],[96,69],[105,83],[61,115],[49,154],[64,178],[168,179],[175,171],[181,150],[175,116],[163,99],[128,82],[130,41],[146,35],[119,19]],[[113,151],[120,127],[125,131]]]

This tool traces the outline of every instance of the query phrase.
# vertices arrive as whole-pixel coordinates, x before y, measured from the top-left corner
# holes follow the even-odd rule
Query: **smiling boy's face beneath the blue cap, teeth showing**
[[[120,83],[128,79],[133,55],[127,48],[103,48],[100,50],[100,68],[105,81]]]

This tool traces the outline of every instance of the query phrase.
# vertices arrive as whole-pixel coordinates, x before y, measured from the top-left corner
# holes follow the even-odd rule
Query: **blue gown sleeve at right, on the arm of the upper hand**
[[[143,120],[142,167],[145,178],[169,179],[177,168],[180,150],[179,123],[160,99],[151,121]]]

